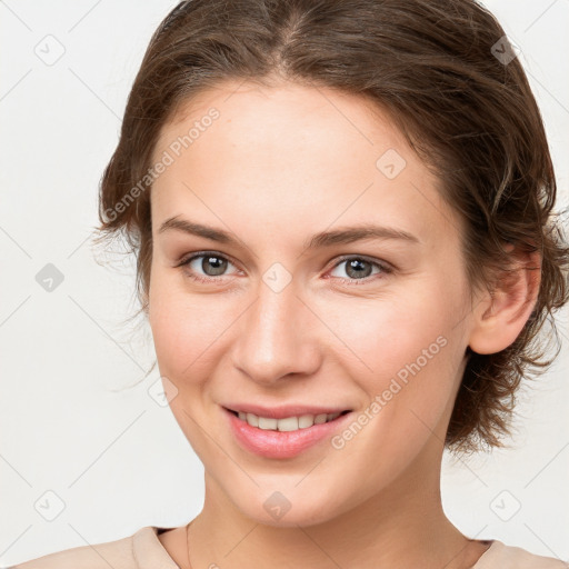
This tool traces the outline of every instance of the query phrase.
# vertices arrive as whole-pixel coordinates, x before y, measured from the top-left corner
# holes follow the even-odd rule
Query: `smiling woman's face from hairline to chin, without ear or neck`
[[[438,488],[471,305],[437,180],[332,90],[228,83],[184,111],[154,151],[149,320],[207,497],[289,526]],[[350,412],[280,432],[227,410],[257,407]]]

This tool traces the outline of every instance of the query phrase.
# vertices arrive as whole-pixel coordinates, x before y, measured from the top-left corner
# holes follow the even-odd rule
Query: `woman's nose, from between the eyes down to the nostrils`
[[[236,368],[262,385],[315,373],[321,365],[322,350],[317,318],[305,302],[295,281],[278,292],[260,282],[257,299],[239,319],[236,330]]]

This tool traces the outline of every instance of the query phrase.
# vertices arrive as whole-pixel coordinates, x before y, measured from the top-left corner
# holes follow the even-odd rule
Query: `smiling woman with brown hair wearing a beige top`
[[[137,254],[203,509],[18,567],[567,567],[462,535],[440,499],[445,447],[499,446],[547,363],[555,199],[526,76],[473,1],[181,2],[100,229]]]

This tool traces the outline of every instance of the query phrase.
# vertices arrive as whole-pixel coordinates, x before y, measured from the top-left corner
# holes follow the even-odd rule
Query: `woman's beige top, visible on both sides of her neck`
[[[117,541],[66,549],[8,569],[179,569],[158,539],[169,529],[147,526]],[[569,569],[569,562],[493,540],[472,569]]]

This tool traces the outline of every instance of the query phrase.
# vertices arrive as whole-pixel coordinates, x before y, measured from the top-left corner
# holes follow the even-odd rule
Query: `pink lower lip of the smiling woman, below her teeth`
[[[273,431],[251,427],[228,409],[223,412],[240,445],[248,451],[266,458],[293,458],[303,450],[331,437],[349,419],[351,412],[341,415],[333,421],[313,425],[296,431]]]

